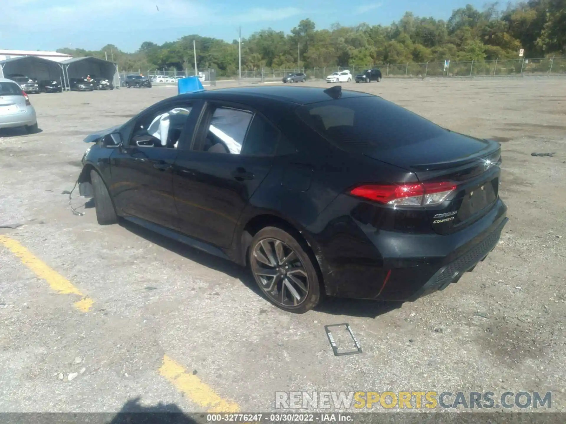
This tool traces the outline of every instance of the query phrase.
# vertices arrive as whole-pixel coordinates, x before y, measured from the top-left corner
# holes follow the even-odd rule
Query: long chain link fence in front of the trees
[[[470,62],[426,62],[426,63],[385,63],[365,67],[324,67],[294,68],[242,71],[242,79],[252,81],[280,81],[292,72],[306,73],[308,79],[324,80],[337,71],[350,71],[354,76],[371,68],[379,68],[383,77],[423,78],[423,77],[473,77],[473,76],[513,76],[513,75],[566,75],[566,57],[511,60],[482,60]]]

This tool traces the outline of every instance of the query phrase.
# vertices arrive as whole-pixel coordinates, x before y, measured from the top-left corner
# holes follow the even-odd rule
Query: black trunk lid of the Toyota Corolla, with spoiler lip
[[[500,144],[446,132],[434,139],[365,153],[413,172],[422,183],[449,181],[457,186],[438,206],[425,206],[435,232],[458,231],[483,217],[499,196]]]

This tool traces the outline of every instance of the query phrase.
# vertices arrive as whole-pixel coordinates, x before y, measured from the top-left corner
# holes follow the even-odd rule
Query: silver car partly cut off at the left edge
[[[24,127],[37,132],[37,116],[28,95],[12,80],[0,78],[0,129]]]

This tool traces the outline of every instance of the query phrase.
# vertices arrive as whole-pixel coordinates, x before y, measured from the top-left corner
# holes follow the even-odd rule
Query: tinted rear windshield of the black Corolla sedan
[[[372,152],[434,139],[447,132],[378,96],[331,100],[297,109],[299,117],[345,150]]]

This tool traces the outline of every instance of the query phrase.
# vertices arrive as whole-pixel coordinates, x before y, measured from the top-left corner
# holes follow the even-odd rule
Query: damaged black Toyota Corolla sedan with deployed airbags
[[[85,141],[98,223],[249,265],[288,311],[443,289],[507,222],[498,143],[340,86],[182,94]]]

